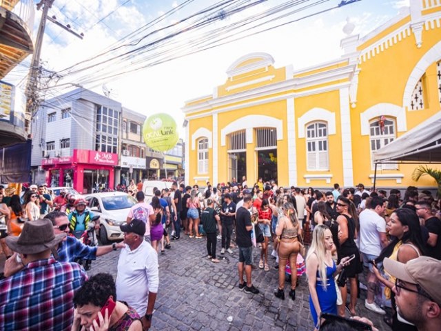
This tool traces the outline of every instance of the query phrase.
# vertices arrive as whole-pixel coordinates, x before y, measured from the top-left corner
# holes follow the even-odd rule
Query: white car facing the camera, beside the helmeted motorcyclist
[[[124,192],[92,193],[84,197],[88,201],[88,209],[100,216],[99,239],[103,245],[109,241],[124,239],[119,225],[125,223],[130,208],[136,200]]]

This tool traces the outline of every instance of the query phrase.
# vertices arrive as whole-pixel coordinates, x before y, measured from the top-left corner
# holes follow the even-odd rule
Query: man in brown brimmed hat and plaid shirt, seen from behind
[[[25,268],[0,281],[0,330],[70,330],[72,298],[87,275],[79,264],[51,257],[63,238],[48,219],[26,222],[20,237],[7,237]]]

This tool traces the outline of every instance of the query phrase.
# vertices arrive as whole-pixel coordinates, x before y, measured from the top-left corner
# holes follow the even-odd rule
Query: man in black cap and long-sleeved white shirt
[[[119,255],[116,297],[136,310],[143,330],[148,330],[159,285],[158,254],[144,241],[143,221],[132,219],[130,224],[120,225],[120,228],[126,246]]]

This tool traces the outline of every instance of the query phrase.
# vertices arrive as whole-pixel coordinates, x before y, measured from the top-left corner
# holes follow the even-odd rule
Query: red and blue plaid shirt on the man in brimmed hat
[[[28,263],[0,281],[0,330],[70,330],[74,291],[87,278],[77,263],[52,257]]]

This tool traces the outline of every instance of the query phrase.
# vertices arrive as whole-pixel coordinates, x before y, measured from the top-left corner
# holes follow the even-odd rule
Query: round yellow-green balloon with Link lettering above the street
[[[169,114],[154,114],[143,124],[143,137],[145,145],[152,150],[158,152],[171,150],[179,139],[176,122]]]

